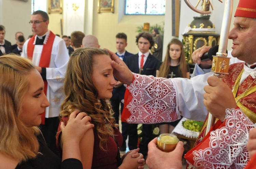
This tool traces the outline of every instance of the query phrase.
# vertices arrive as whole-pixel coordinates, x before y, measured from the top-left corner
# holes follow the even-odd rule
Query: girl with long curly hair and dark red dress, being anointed
[[[139,149],[120,155],[122,134],[116,128],[109,99],[116,81],[111,58],[106,50],[79,48],[70,57],[64,82],[66,99],[60,118],[68,122],[70,112],[83,111],[91,117],[94,128],[80,142],[83,168],[142,169],[143,155]],[[61,135],[58,136],[62,145]]]

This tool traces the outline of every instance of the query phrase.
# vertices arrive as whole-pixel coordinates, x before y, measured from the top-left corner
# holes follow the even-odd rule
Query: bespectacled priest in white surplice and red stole
[[[57,153],[55,135],[60,105],[65,98],[62,86],[69,54],[64,40],[48,30],[47,13],[35,11],[29,23],[35,35],[24,43],[21,56],[32,61],[44,80],[44,93],[50,106],[42,116],[41,130],[48,147]]]

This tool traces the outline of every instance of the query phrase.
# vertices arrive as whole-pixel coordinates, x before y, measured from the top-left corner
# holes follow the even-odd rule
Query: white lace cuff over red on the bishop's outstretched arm
[[[181,118],[171,79],[133,76],[135,80],[127,87],[132,97],[126,106],[131,113],[128,123],[155,124]]]

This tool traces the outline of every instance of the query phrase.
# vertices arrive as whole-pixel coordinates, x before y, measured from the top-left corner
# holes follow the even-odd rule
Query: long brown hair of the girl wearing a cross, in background
[[[167,51],[166,51],[166,56],[165,56],[165,60],[163,61],[163,63],[161,64],[160,68],[159,68],[159,77],[167,77],[170,71],[170,63],[171,63],[171,57],[170,57],[170,46],[172,44],[177,44],[181,47],[181,56],[179,58],[179,71],[181,73],[182,77],[186,77],[186,73],[187,73],[187,62],[185,59],[185,52],[184,52],[184,48],[183,48],[183,43],[176,38],[173,38],[167,45]]]

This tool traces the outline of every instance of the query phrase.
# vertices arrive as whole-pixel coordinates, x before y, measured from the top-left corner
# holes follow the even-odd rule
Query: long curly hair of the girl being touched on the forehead
[[[95,55],[109,55],[98,48],[79,48],[70,56],[64,82],[65,100],[61,105],[61,116],[69,116],[75,109],[86,112],[97,130],[100,148],[114,136],[115,118],[108,99],[97,100],[98,91],[92,80]]]

